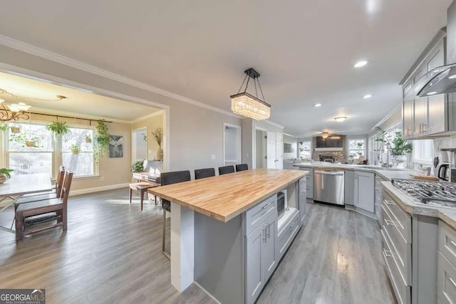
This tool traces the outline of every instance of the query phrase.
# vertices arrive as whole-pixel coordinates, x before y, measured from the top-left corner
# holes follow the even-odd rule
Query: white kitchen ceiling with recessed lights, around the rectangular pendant
[[[450,3],[8,1],[0,33],[224,110],[253,67],[285,132],[363,134],[400,103]],[[360,58],[371,62],[353,68]]]

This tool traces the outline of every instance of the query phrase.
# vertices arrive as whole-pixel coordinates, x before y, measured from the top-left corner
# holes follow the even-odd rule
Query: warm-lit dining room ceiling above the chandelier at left
[[[0,88],[17,96],[14,98],[9,94],[0,94],[1,99],[6,103],[23,102],[31,105],[30,112],[52,112],[60,115],[132,122],[160,110],[6,73],[0,73]],[[66,99],[58,100],[56,95],[63,95]]]

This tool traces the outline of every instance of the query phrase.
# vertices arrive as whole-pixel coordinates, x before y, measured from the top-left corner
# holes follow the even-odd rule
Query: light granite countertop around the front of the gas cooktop
[[[390,196],[395,199],[395,202],[409,214],[437,217],[452,226],[453,229],[456,229],[456,209],[416,203],[410,196],[394,187],[390,182],[381,182],[381,185],[385,192],[390,194]]]

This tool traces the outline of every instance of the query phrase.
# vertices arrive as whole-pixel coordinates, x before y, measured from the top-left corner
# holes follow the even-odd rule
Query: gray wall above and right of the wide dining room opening
[[[169,106],[170,130],[167,130],[167,134],[170,137],[167,139],[167,147],[165,147],[169,150],[170,156],[170,168],[168,170],[193,170],[202,167],[222,166],[223,123],[240,125],[240,119],[237,117],[200,108],[190,103],[152,93],[150,90],[126,85],[6,46],[0,46],[0,58],[2,63],[126,95],[125,100],[128,100],[128,96],[132,96],[133,98],[150,100],[153,106],[156,106],[153,103]],[[214,154],[216,158],[211,159],[211,154]],[[124,157],[124,159],[126,158]],[[125,168],[128,170],[130,159],[128,159],[127,164]],[[130,182],[130,179],[125,178],[124,182]],[[97,187],[97,183],[94,181],[92,187]]]

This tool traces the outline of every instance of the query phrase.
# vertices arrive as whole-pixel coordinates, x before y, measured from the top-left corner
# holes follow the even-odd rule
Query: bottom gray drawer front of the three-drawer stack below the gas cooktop
[[[388,236],[385,236],[384,231],[382,230],[382,239],[383,239],[383,258],[385,258],[386,271],[388,271],[388,276],[390,277],[391,285],[393,285],[393,290],[396,295],[396,299],[400,304],[410,304],[411,303],[411,288],[402,281],[400,277],[400,272],[398,267],[395,265],[393,255],[390,251],[390,246],[387,241]]]

